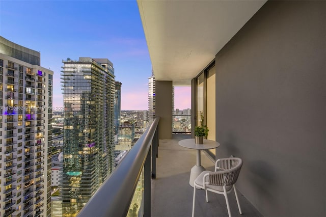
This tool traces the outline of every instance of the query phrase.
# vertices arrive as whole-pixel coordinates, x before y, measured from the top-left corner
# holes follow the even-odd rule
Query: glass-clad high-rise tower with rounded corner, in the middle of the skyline
[[[63,216],[75,216],[114,168],[113,64],[64,60]]]

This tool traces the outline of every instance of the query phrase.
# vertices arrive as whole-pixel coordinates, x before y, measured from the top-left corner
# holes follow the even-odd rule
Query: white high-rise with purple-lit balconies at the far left
[[[0,37],[0,216],[49,216],[53,71]]]

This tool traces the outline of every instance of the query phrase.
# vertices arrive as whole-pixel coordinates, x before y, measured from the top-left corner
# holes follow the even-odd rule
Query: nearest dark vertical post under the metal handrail
[[[144,217],[151,216],[151,181],[151,150],[149,150],[144,164]]]

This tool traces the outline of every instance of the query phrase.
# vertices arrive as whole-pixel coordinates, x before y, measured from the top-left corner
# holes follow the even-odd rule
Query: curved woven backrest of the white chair
[[[219,160],[221,171],[211,172],[208,175],[210,185],[229,186],[233,185],[238,179],[242,159],[238,157],[223,158]]]

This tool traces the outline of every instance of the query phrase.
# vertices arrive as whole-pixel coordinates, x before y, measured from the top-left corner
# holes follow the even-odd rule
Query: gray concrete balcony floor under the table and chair
[[[196,150],[178,145],[190,135],[173,134],[172,140],[159,140],[158,158],[156,158],[156,179],[152,180],[151,215],[191,216],[194,188],[189,185],[191,168],[196,164]],[[223,145],[223,144],[221,144]],[[214,170],[214,162],[201,152],[201,163],[206,170]],[[241,176],[241,173],[240,173]],[[228,194],[232,216],[262,216],[257,209],[238,191],[242,215],[237,208],[234,192]],[[195,216],[228,216],[223,195],[197,189]]]

